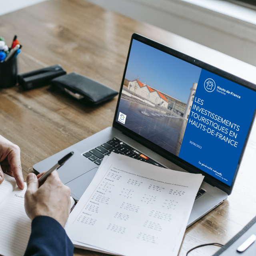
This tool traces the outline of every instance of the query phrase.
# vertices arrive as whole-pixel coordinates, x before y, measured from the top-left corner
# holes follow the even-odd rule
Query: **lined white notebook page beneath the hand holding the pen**
[[[24,190],[18,187],[0,206],[0,254],[4,256],[23,256],[31,232],[31,220],[24,208]]]

